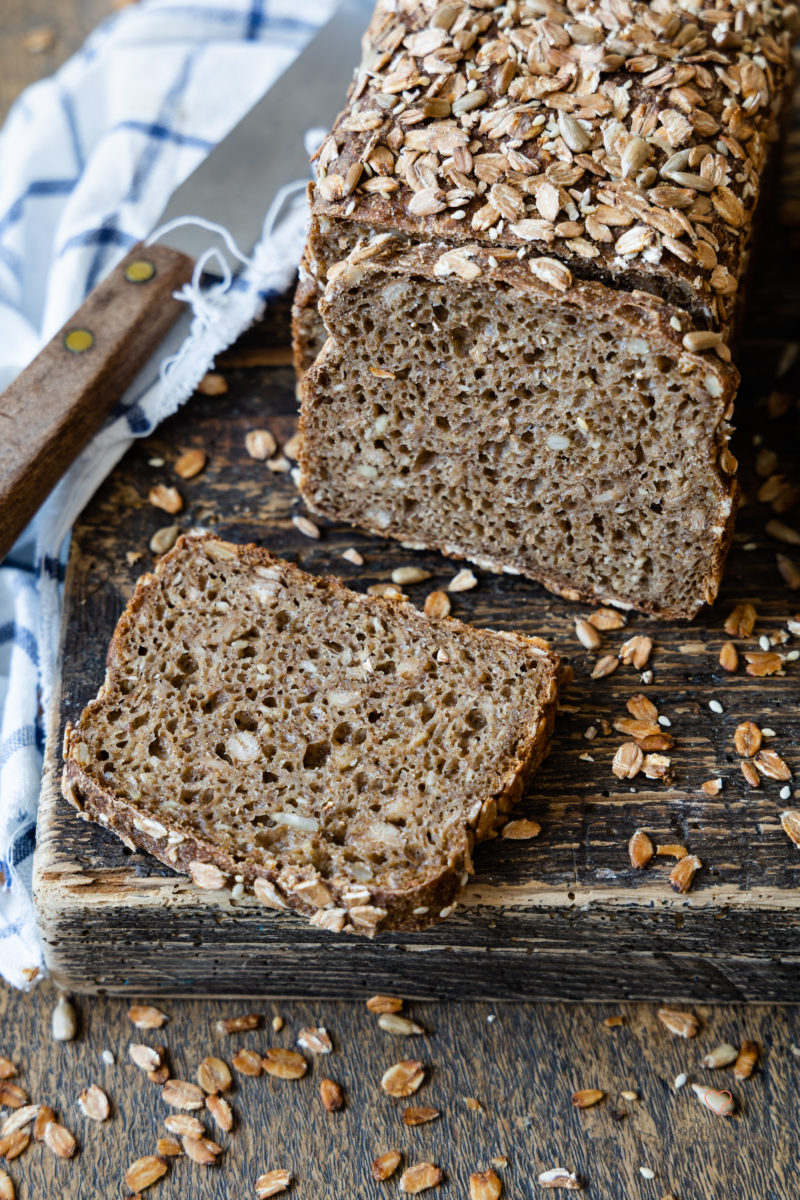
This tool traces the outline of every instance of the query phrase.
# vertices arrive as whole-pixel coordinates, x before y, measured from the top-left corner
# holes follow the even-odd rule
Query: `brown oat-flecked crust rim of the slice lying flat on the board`
[[[477,800],[469,815],[469,821],[464,827],[453,826],[452,848],[446,866],[435,876],[425,880],[419,887],[404,892],[386,890],[378,887],[369,889],[369,896],[361,904],[355,904],[353,898],[348,900],[343,889],[333,887],[330,881],[324,881],[324,886],[330,894],[330,902],[319,907],[303,895],[302,884],[313,884],[313,871],[311,869],[297,872],[294,878],[285,872],[271,872],[255,864],[239,860],[228,854],[219,846],[203,838],[180,833],[181,840],[169,841],[170,828],[168,824],[161,826],[163,834],[157,828],[160,822],[139,809],[131,800],[121,800],[107,788],[98,786],[78,761],[77,746],[79,740],[79,726],[83,721],[90,720],[92,713],[102,706],[108,689],[108,680],[112,678],[116,665],[116,654],[126,634],[133,625],[134,614],[148,604],[155,592],[169,578],[169,572],[175,560],[181,560],[181,556],[192,547],[205,545],[206,547],[222,546],[225,551],[231,551],[235,557],[245,559],[257,565],[272,565],[278,563],[289,574],[296,572],[306,576],[294,564],[275,558],[269,551],[255,545],[234,546],[223,542],[209,534],[184,535],[175,544],[175,547],[160,559],[155,571],[140,576],[137,582],[131,601],[118,622],[114,636],[108,650],[106,683],[101,686],[97,697],[86,706],[78,725],[68,722],[64,737],[64,774],[61,790],[62,794],[73,808],[76,808],[85,821],[95,821],[119,836],[131,850],[144,850],[155,858],[166,863],[178,871],[192,875],[194,882],[200,886],[217,888],[230,888],[231,880],[242,883],[243,889],[253,892],[259,888],[258,899],[263,904],[273,908],[290,908],[300,914],[312,918],[312,924],[319,928],[332,929],[336,932],[357,932],[373,936],[381,930],[420,930],[449,916],[455,907],[455,898],[464,886],[467,877],[473,874],[471,850],[473,846],[488,838],[497,836],[498,832],[509,820],[509,814],[522,796],[528,780],[545,758],[555,724],[558,708],[558,671],[559,658],[553,654],[539,638],[525,637],[519,634],[505,634],[494,630],[474,629],[453,618],[426,618],[414,610],[415,616],[431,624],[446,623],[451,629],[457,626],[458,631],[469,632],[470,637],[479,641],[503,637],[519,646],[522,650],[535,654],[537,661],[547,666],[546,678],[540,694],[541,714],[535,726],[530,727],[522,742],[516,748],[513,758],[501,779],[500,787],[492,796]],[[307,576],[306,576],[307,577]],[[359,595],[369,607],[385,612],[389,604],[405,604],[404,601],[386,600],[377,596],[361,596],[351,593],[349,588],[336,577],[325,577],[325,584],[332,589],[339,589],[348,595]],[[197,864],[210,868],[207,872],[198,871]],[[216,869],[216,874],[215,874]],[[210,878],[210,882],[207,880]],[[319,877],[317,877],[319,881]],[[260,881],[257,883],[257,881]],[[235,886],[235,884],[233,884]],[[357,890],[354,884],[354,889]],[[308,887],[306,887],[308,890]],[[369,911],[367,911],[369,910]],[[416,910],[416,911],[415,911]],[[419,910],[425,910],[421,912]],[[327,919],[326,916],[327,914]]]

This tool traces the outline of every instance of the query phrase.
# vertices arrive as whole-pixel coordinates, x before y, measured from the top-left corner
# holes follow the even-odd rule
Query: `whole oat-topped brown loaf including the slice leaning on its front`
[[[688,618],[736,505],[729,343],[783,0],[379,0],[295,302],[309,506]]]

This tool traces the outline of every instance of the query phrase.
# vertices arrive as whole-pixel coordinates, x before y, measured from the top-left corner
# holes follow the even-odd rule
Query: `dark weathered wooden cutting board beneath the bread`
[[[798,208],[795,202],[793,216],[792,196],[800,194],[799,150],[795,138],[784,164],[789,221]],[[772,450],[775,469],[800,482],[798,368],[775,382],[800,329],[800,238],[796,227],[769,224],[739,353],[744,383],[733,448],[747,503],[720,600],[690,625],[631,614],[624,630],[603,636],[599,654],[616,653],[633,634],[652,638],[652,682],[643,685],[632,666],[590,678],[597,655],[575,634],[575,618],[587,607],[510,576],[481,575],[474,592],[455,598],[455,614],[476,625],[552,640],[576,679],[564,696],[552,755],[523,803],[541,835],[480,847],[477,874],[456,914],[423,934],[384,934],[371,942],[320,934],[302,918],[246,898],[219,900],[84,824],[61,798],[64,722],[102,682],[114,624],[137,576],[152,565],[148,545],[160,526],[176,520],[257,541],[308,571],[341,575],[356,589],[413,562],[434,572],[431,583],[410,589],[420,605],[458,569],[435,553],[411,553],[344,526],[325,526],[312,541],[291,524],[302,505],[290,476],[271,473],[245,450],[249,430],[269,427],[279,443],[295,430],[287,306],[221,361],[224,395],[196,396],[130,451],[76,527],[65,582],[61,678],[36,856],[38,919],[58,982],[137,994],[353,996],[391,986],[453,998],[800,1000],[800,853],[778,818],[783,809],[800,808],[800,662],[769,678],[746,674],[744,660],[735,674],[718,665],[722,625],[734,605],[750,601],[758,612],[740,650],[758,650],[759,636],[782,636],[788,618],[800,619],[800,592],[787,588],[776,566],[777,552],[800,562],[800,548],[765,533],[774,514],[756,500],[759,450]],[[775,389],[787,400],[768,402]],[[191,448],[207,452],[207,466],[182,481],[173,464]],[[178,518],[148,503],[157,482],[179,486],[185,509]],[[780,520],[800,526],[800,505]],[[349,546],[363,554],[363,566],[342,559]],[[800,641],[777,648],[786,653],[793,644]],[[624,738],[602,733],[603,722],[626,716],[626,701],[643,690],[672,722],[672,784],[643,775],[620,782],[610,770]],[[710,709],[711,701],[721,713]],[[744,720],[775,731],[768,744],[794,772],[789,799],[781,799],[780,782],[753,790],[742,778],[733,736]],[[591,740],[589,727],[601,731]],[[714,778],[722,778],[723,788],[709,797],[700,785]],[[672,859],[631,869],[626,847],[637,827],[654,842],[679,842],[699,856],[703,869],[687,895],[669,887]]]

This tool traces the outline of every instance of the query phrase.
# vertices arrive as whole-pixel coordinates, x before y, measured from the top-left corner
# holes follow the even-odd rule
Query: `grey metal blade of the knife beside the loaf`
[[[372,0],[343,0],[293,65],[173,196],[155,228],[187,215],[223,224],[245,253],[261,234],[278,190],[308,176],[306,130],[330,128],[344,107]],[[213,235],[197,226],[158,239],[198,258]]]

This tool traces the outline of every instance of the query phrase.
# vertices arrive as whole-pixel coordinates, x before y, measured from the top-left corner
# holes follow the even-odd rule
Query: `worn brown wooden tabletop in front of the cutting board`
[[[386,978],[385,988],[392,988]],[[146,1196],[225,1200],[254,1195],[253,1183],[266,1170],[285,1168],[295,1177],[287,1194],[297,1200],[378,1200],[398,1195],[397,1176],[387,1183],[369,1178],[378,1153],[396,1147],[404,1165],[428,1159],[441,1166],[444,1184],[426,1193],[441,1200],[465,1200],[471,1171],[486,1170],[493,1156],[505,1200],[561,1196],[537,1183],[540,1171],[566,1166],[581,1176],[587,1200],[796,1200],[800,1195],[796,1094],[800,1084],[800,1024],[795,1008],[698,1008],[696,1039],[667,1033],[650,1006],[627,1006],[625,1024],[606,1028],[603,1019],[620,1010],[609,1006],[410,1003],[405,1012],[426,1033],[399,1038],[378,1027],[362,1002],[285,1002],[239,1004],[219,1001],[166,1002],[169,1022],[156,1031],[134,1030],[127,1003],[110,998],[78,1002],[80,1033],[72,1043],[49,1037],[53,997],[42,988],[31,996],[0,991],[0,1054],[19,1067],[17,1082],[35,1103],[50,1104],[77,1136],[79,1151],[62,1162],[42,1145],[31,1145],[7,1165],[19,1200],[58,1195],[64,1200],[122,1196],[127,1165],[155,1153],[170,1110],[160,1087],[128,1058],[131,1042],[168,1048],[175,1078],[194,1080],[209,1054],[229,1066],[240,1048],[295,1046],[303,1026],[325,1026],[333,1052],[306,1054],[307,1075],[299,1081],[235,1076],[229,1094],[235,1112],[231,1133],[211,1136],[223,1147],[216,1166],[173,1159],[168,1175]],[[223,1036],[219,1016],[264,1014],[255,1032]],[[273,1015],[284,1019],[275,1033]],[[722,1042],[744,1038],[763,1044],[756,1074],[736,1081],[730,1068],[708,1070],[702,1057]],[[103,1063],[110,1049],[116,1063]],[[393,1062],[416,1057],[427,1078],[408,1100],[381,1092],[380,1076]],[[732,1117],[717,1117],[691,1091],[674,1090],[681,1073],[736,1100]],[[323,1078],[336,1080],[345,1108],[329,1114],[319,1098]],[[112,1103],[112,1117],[98,1124],[77,1108],[79,1092],[98,1084]],[[607,1093],[596,1108],[576,1110],[578,1088]],[[622,1091],[638,1099],[626,1100]],[[473,1097],[482,1105],[471,1111]],[[435,1108],[441,1117],[407,1128],[407,1105]],[[625,1112],[624,1117],[619,1117]],[[616,1114],[616,1118],[614,1116]],[[201,1115],[201,1114],[200,1114]],[[655,1172],[645,1180],[639,1168]]]

